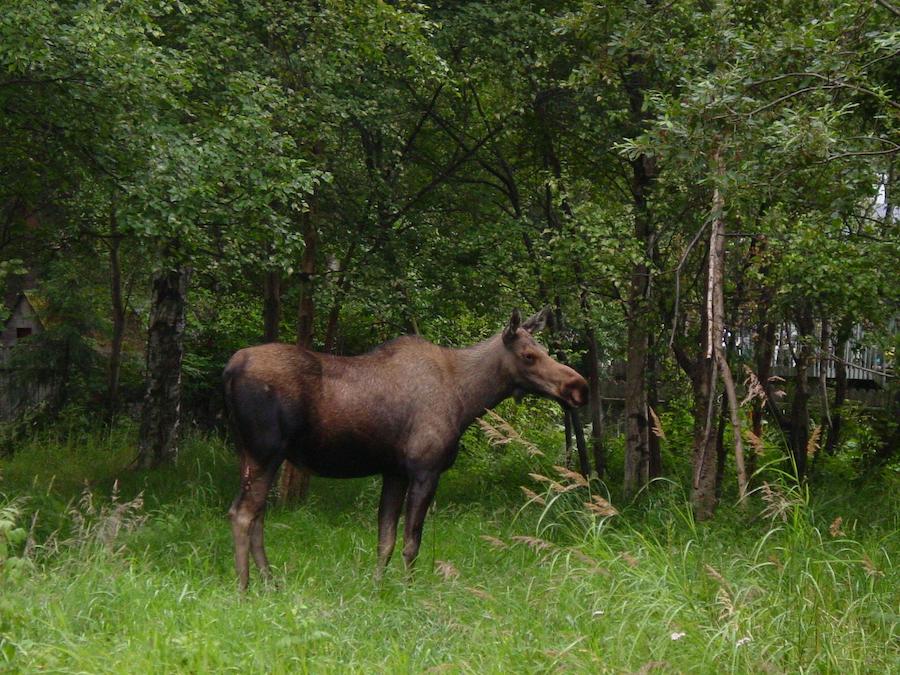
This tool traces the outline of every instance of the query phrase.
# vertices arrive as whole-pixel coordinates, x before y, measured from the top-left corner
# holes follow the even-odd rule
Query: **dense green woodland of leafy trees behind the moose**
[[[534,441],[617,506],[674,486],[692,523],[783,515],[778,481],[890,502],[898,25],[892,0],[5,0],[0,318],[28,290],[44,330],[4,365],[52,395],[0,457],[105,430],[109,471],[163,480],[224,433],[241,347],[463,346],[549,306],[590,403],[486,418],[482,494],[489,443]],[[882,355],[877,406],[848,345]]]

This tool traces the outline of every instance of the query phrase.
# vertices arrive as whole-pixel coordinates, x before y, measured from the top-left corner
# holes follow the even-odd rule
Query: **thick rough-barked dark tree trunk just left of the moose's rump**
[[[181,360],[190,270],[177,267],[153,276],[147,337],[147,392],[141,411],[138,456],[133,466],[153,468],[178,454],[181,423]]]

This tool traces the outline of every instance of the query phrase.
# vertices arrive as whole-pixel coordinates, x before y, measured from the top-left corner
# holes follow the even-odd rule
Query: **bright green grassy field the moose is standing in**
[[[0,671],[900,669],[896,477],[815,498],[774,485],[695,524],[670,483],[603,516],[552,461],[464,454],[415,577],[395,556],[380,586],[377,481],[315,480],[270,511],[279,588],[254,575],[240,598],[230,450],[194,435],[178,467],[134,474],[132,443],[48,436],[0,460]]]

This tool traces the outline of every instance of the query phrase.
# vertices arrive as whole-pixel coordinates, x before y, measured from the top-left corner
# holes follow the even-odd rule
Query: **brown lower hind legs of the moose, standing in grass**
[[[273,462],[269,466],[261,466],[246,455],[241,457],[241,490],[228,511],[234,537],[234,566],[241,591],[247,590],[250,581],[251,551],[263,575],[268,574],[262,540],[263,514],[278,464]]]

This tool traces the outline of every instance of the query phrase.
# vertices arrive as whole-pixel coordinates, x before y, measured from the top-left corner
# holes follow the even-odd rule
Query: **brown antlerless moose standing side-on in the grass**
[[[522,322],[518,310],[498,334],[471,347],[400,337],[361,356],[340,357],[269,343],[236,352],[224,372],[226,405],[240,457],[240,490],[229,516],[241,591],[249,559],[271,578],[263,546],[266,497],[285,460],[313,474],[381,474],[380,579],[406,501],[403,558],[412,570],[425,514],[459,438],[487,409],[533,393],[578,407],[588,386],[533,337],[549,308]]]

